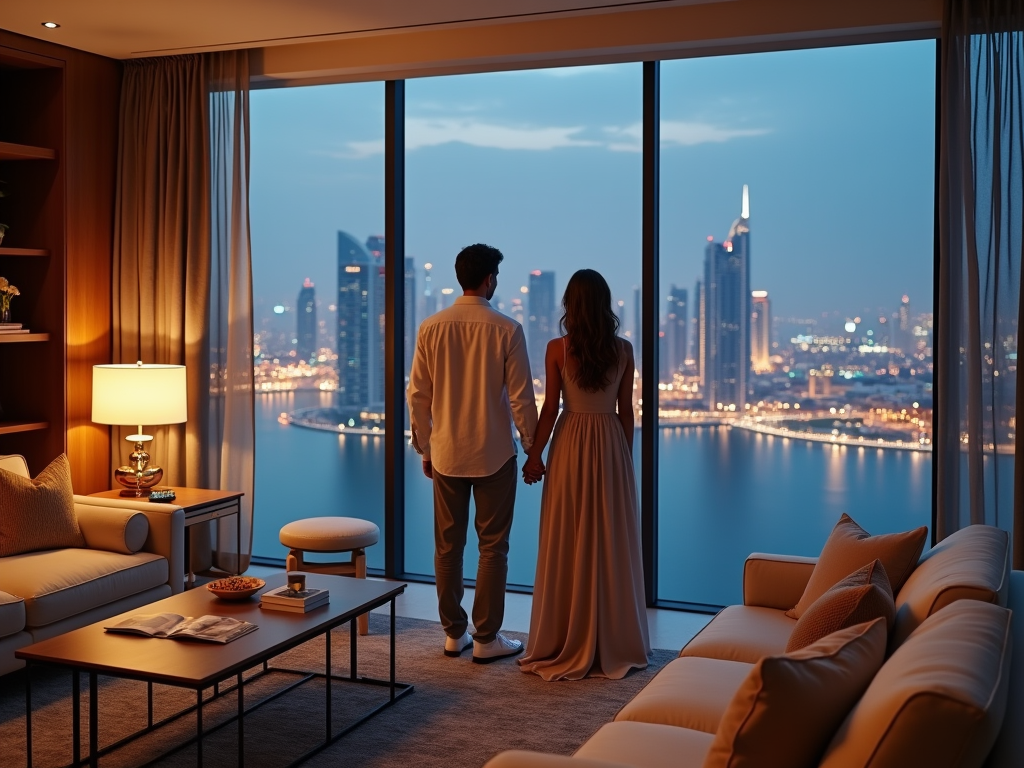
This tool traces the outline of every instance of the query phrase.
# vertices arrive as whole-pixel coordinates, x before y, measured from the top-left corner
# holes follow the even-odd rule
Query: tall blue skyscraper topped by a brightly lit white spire
[[[742,413],[751,370],[750,197],[722,243],[705,247],[705,403]]]

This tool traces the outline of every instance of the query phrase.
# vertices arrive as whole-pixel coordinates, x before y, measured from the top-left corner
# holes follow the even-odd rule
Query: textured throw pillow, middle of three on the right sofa
[[[794,627],[785,652],[874,618],[885,618],[886,630],[892,629],[896,618],[893,592],[879,560],[855,570],[815,600]]]

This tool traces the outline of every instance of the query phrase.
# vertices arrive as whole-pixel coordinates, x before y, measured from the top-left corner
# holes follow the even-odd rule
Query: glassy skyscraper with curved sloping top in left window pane
[[[348,232],[338,232],[338,406],[366,408],[372,400],[377,351],[373,322],[377,264]]]

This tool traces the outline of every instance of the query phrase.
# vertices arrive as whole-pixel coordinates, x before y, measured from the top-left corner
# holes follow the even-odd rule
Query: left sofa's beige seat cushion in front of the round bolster
[[[26,624],[43,627],[167,583],[167,560],[61,549],[0,558],[0,584],[25,598]]]

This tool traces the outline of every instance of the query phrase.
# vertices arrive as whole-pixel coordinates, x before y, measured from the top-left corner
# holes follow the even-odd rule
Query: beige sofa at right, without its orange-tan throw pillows
[[[815,562],[751,555],[743,604],[722,610],[574,756],[513,751],[486,768],[705,765],[755,664],[784,652],[797,624],[785,610]],[[884,664],[838,730],[823,734],[820,765],[1024,766],[1024,571],[1010,570],[1007,534],[973,525],[947,538],[922,555],[895,604]],[[784,765],[778,748],[806,737],[802,725],[766,743],[763,760],[729,765]]]

